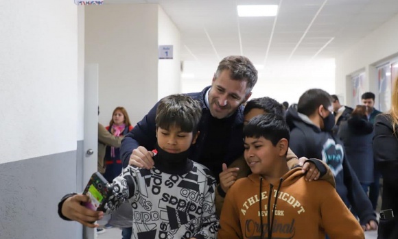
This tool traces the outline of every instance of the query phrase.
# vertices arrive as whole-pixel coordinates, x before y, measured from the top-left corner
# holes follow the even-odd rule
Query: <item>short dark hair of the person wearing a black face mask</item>
[[[320,105],[324,108],[331,106],[332,98],[328,92],[321,89],[309,89],[301,95],[297,104],[297,111],[306,116],[310,116],[318,110]]]

